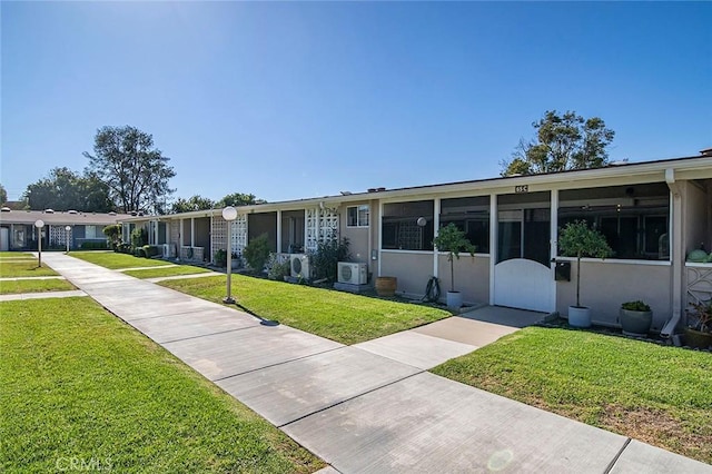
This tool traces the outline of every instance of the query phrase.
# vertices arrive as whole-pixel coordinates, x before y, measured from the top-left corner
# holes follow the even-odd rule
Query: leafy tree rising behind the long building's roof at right
[[[599,117],[547,110],[532,126],[536,140],[520,140],[512,161],[502,162],[502,176],[600,168],[609,162],[606,147],[615,132]]]

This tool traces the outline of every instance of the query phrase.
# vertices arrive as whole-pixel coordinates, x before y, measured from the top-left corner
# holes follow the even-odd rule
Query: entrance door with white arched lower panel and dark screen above
[[[553,312],[556,302],[550,261],[548,192],[500,196],[497,207],[494,304]]]

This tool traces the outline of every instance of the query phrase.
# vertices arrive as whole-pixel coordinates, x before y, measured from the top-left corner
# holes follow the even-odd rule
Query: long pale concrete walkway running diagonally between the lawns
[[[438,344],[455,347],[439,342],[467,346],[463,350],[476,347],[474,340],[427,334],[442,328],[406,332],[431,343],[421,346],[423,361],[404,363],[373,347],[366,350],[368,343],[348,347],[264,325],[61,254],[46,261],[324,458],[332,472],[712,472],[712,466],[425,372],[432,359],[449,356],[427,353],[438,353]]]

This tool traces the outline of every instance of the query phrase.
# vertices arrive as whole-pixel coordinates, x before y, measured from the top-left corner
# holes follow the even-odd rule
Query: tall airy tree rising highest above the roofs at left
[[[174,192],[168,181],[176,176],[168,166],[170,158],[154,147],[154,137],[135,127],[102,127],[95,137],[93,155],[88,171],[109,187],[118,208],[161,210],[167,196]]]

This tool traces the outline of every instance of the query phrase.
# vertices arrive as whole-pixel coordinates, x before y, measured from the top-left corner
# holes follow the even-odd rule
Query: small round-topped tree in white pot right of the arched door
[[[568,306],[568,324],[574,327],[591,326],[591,308],[581,305],[581,258],[605,258],[613,254],[605,237],[589,227],[585,220],[566,224],[558,233],[558,248],[564,257],[576,257],[576,304]]]

